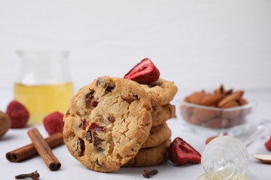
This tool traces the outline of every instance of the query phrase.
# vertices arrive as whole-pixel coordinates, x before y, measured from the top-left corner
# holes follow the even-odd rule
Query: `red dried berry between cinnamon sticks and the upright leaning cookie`
[[[49,135],[56,134],[57,132],[63,132],[64,114],[56,111],[43,118],[43,124]]]

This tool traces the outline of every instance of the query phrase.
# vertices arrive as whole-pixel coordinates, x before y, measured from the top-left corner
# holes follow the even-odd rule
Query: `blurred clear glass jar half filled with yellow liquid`
[[[28,123],[42,123],[54,111],[65,114],[73,94],[69,74],[68,51],[17,51],[19,71],[14,85],[14,98],[30,114]]]

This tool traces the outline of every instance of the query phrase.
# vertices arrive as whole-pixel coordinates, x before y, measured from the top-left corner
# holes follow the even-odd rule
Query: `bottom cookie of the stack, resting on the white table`
[[[131,159],[122,167],[147,167],[159,165],[167,161],[167,150],[170,147],[170,140],[165,141],[162,145],[139,150],[136,157]]]

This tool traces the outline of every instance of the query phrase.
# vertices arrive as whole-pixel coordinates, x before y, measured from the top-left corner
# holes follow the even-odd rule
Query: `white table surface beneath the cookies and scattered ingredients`
[[[176,98],[188,94],[189,92],[179,92]],[[259,120],[270,118],[271,91],[247,92],[245,93],[245,97],[252,98],[258,102],[254,125],[256,125]],[[6,111],[6,105],[8,105],[8,102],[12,99],[13,93],[11,90],[0,90],[0,110]],[[172,140],[179,136],[202,153],[205,146],[205,137],[181,130],[181,125],[177,119],[168,120],[167,124],[172,129]],[[35,127],[40,130],[44,138],[48,136],[43,125],[35,125]],[[10,163],[6,160],[6,152],[31,143],[26,134],[29,128],[31,127],[9,129],[7,134],[0,138],[0,179],[15,179],[15,175],[17,174],[33,172],[35,170],[38,170],[40,173],[40,179],[143,179],[141,173],[143,169],[158,170],[158,174],[151,177],[153,179],[197,179],[197,177],[204,173],[202,165],[200,164],[172,165],[170,162],[149,168],[121,168],[121,170],[111,173],[94,172],[88,170],[81,165],[81,163],[76,161],[76,159],[69,154],[65,145],[61,145],[53,150],[62,165],[60,170],[56,172],[51,172],[40,156],[35,156],[34,158],[21,163]],[[252,133],[254,128],[255,126],[249,129],[249,132],[238,136],[237,138],[244,140]],[[252,144],[248,149],[249,154],[270,154],[271,152],[265,150],[264,142],[264,140],[258,140],[256,143]],[[270,168],[271,166],[269,164],[261,163],[250,156],[249,168],[247,169],[246,174],[251,179],[271,179]]]

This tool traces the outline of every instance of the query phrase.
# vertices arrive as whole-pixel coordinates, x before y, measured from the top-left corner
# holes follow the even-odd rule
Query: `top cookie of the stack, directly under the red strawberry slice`
[[[159,78],[156,82],[150,84],[141,84],[151,100],[152,106],[167,105],[173,100],[178,88],[174,82]]]

